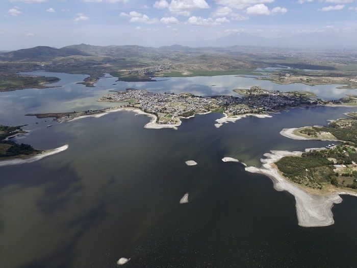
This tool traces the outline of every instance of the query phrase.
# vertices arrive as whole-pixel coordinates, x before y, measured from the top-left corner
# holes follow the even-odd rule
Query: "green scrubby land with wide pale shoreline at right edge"
[[[357,119],[340,118],[325,127],[304,127],[294,132],[291,138],[333,135],[341,143],[305,152],[271,151],[261,159],[262,167],[246,170],[268,176],[276,190],[293,194],[299,225],[334,224],[331,208],[342,202],[340,195],[357,196]]]

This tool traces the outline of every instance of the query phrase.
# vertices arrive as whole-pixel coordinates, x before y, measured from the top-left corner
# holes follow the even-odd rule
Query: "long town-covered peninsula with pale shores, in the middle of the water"
[[[264,94],[249,94],[240,98],[226,95],[195,96],[191,93],[154,93],[133,88],[112,92],[104,95],[98,101],[120,103],[120,106],[83,112],[27,115],[38,118],[55,117],[58,121],[68,121],[83,116],[98,117],[109,112],[127,110],[150,116],[152,120],[145,126],[146,128],[177,128],[181,125],[181,118],[189,118],[195,114],[220,112],[224,116],[217,120],[218,124],[215,124],[216,127],[220,127],[222,123],[233,122],[247,115],[271,117],[269,113],[290,107],[324,105],[326,103],[311,98],[311,94],[269,90],[264,90]]]

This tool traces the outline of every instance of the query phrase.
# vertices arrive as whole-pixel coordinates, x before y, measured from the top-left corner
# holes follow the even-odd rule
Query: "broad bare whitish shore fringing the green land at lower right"
[[[311,149],[306,149],[309,151]],[[271,151],[261,159],[261,167],[246,167],[251,173],[268,176],[274,183],[277,191],[288,191],[295,197],[298,224],[302,227],[320,227],[334,224],[334,215],[331,208],[334,204],[342,202],[340,194],[356,196],[357,193],[336,189],[334,192],[318,192],[306,189],[286,179],[274,165],[276,161],[285,156],[301,156],[302,152]]]

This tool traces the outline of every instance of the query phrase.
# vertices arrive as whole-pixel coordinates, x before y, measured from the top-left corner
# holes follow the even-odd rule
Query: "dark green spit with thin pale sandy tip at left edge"
[[[11,137],[27,133],[21,127],[0,125],[0,167],[31,163],[68,149],[68,145],[64,145],[53,150],[36,150],[29,144],[18,144],[12,141]]]

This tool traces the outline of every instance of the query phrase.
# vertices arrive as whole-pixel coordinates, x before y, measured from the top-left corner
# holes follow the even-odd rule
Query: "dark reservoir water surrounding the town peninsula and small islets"
[[[115,106],[96,100],[126,87],[210,95],[262,82],[269,83],[265,88],[281,85],[223,76],[142,83],[103,78],[88,88],[76,84],[82,75],[44,74],[61,76],[61,87],[0,93],[0,123],[29,124],[31,132],[18,142],[69,148],[0,168],[1,267],[116,267],[121,257],[131,258],[127,267],[355,265],[357,198],[344,196],[334,206],[335,225],[299,227],[293,196],[240,163],[221,161],[229,156],[260,165],[270,150],[322,147],[326,142],[292,140],[279,131],[324,125],[355,108],[291,109],[219,129],[219,113],[184,119],[178,130],[151,130],[143,128],[148,117],[131,112],[46,128],[50,118],[24,114]],[[290,86],[308,90],[301,84],[278,90]],[[336,85],[311,88],[331,99],[345,93]],[[198,165],[187,166],[187,160]],[[187,192],[189,203],[179,204]]]

